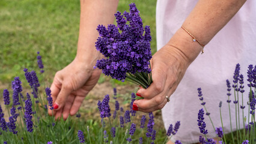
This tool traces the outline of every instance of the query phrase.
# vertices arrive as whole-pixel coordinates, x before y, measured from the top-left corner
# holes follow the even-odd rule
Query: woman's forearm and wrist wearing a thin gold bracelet
[[[201,44],[206,45],[239,11],[245,0],[198,1],[194,10],[183,23]],[[187,61],[192,62],[200,53],[202,46],[192,41],[192,37],[183,29],[178,29],[168,43],[184,54]]]

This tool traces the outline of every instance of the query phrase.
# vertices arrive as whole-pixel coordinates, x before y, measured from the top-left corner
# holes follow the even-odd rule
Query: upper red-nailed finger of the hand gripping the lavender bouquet
[[[155,95],[160,94],[163,91],[166,82],[166,74],[163,74],[165,69],[166,68],[154,67],[152,69],[153,83],[151,83],[147,89],[139,89],[136,95],[141,95],[141,97],[144,97],[145,99],[151,99]]]

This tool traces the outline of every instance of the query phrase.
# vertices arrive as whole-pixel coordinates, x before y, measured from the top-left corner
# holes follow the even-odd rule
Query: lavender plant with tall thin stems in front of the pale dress
[[[248,66],[248,84],[250,91],[248,92],[248,97],[249,101],[247,101],[247,109],[248,109],[248,114],[246,116],[246,113],[244,113],[244,109],[246,106],[244,105],[243,101],[243,94],[245,92],[244,90],[244,82],[243,82],[243,75],[240,74],[240,65],[237,64],[235,71],[234,71],[234,76],[233,76],[233,91],[234,91],[234,100],[233,104],[236,106],[236,119],[235,121],[232,121],[231,119],[231,110],[230,110],[230,104],[231,104],[231,83],[230,80],[226,80],[227,82],[227,95],[228,95],[228,100],[227,104],[229,107],[229,116],[230,116],[230,129],[231,133],[230,134],[225,134],[225,131],[223,129],[223,123],[222,127],[216,127],[213,125],[212,119],[210,118],[210,113],[207,112],[206,109],[206,103],[203,101],[203,94],[201,92],[201,88],[198,88],[198,97],[200,97],[200,100],[202,101],[201,105],[204,106],[204,110],[206,110],[206,115],[209,117],[210,121],[212,122],[213,130],[216,131],[216,137],[219,137],[221,141],[219,143],[255,143],[256,142],[256,127],[255,127],[255,104],[256,104],[256,97],[255,97],[255,92],[256,92],[256,65],[249,65]],[[239,101],[239,96],[242,96],[242,101]],[[240,103],[240,104],[239,104]],[[219,113],[220,113],[220,118],[222,122],[222,113],[221,113],[221,107],[222,107],[222,101],[219,103]],[[207,139],[206,134],[207,130],[206,128],[206,123],[203,121],[204,120],[204,110],[200,109],[198,112],[198,126],[200,128],[200,132],[204,134],[204,136],[200,136],[200,142],[201,143],[216,143],[212,139]],[[242,113],[241,113],[242,112]],[[242,115],[242,118],[240,116]],[[243,122],[243,125],[240,125],[240,121]],[[232,122],[236,122],[236,128],[232,127]],[[246,124],[247,123],[247,124]],[[234,136],[236,134],[236,136]]]

